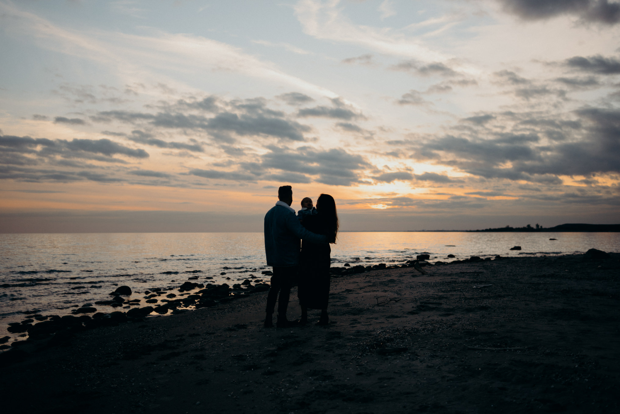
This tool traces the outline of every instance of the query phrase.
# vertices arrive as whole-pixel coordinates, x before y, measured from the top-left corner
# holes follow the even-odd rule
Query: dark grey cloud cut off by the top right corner
[[[576,15],[585,22],[613,25],[620,22],[620,4],[608,0],[498,0],[505,11],[523,20]]]

